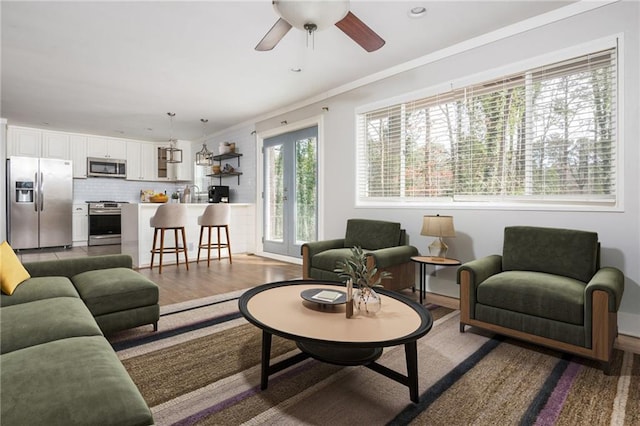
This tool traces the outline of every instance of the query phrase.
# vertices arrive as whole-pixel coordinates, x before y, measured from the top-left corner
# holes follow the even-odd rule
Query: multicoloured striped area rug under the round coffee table
[[[242,292],[164,307],[159,330],[110,338],[159,425],[640,425],[640,355],[616,351],[612,375],[591,361],[476,329],[429,306],[418,341],[420,402],[365,367],[307,360],[261,391],[261,332],[238,312]],[[272,359],[297,349],[274,336]],[[379,363],[405,371],[403,347]]]

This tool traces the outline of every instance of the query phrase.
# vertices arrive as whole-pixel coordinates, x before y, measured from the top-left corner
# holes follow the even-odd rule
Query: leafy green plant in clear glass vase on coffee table
[[[338,268],[334,272],[340,278],[351,280],[355,287],[352,295],[353,310],[364,315],[375,315],[382,308],[382,299],[373,288],[382,287],[382,280],[391,278],[391,274],[387,271],[378,272],[375,265],[369,266],[367,257],[362,247],[353,247],[351,256],[338,261]]]

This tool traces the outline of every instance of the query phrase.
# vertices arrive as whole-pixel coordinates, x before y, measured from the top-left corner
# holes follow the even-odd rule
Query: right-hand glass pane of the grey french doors
[[[296,141],[296,244],[316,238],[316,138]]]

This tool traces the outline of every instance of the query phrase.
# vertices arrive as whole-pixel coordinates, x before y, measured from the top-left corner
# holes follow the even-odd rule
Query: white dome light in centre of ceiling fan
[[[349,0],[274,0],[273,8],[295,28],[306,30],[305,25],[314,24],[316,30],[323,30],[347,16]]]

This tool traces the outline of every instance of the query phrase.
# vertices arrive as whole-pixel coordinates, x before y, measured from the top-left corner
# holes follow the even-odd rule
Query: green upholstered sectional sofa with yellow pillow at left
[[[157,329],[157,285],[124,255],[24,267],[31,278],[0,299],[2,424],[153,424],[104,333]]]

